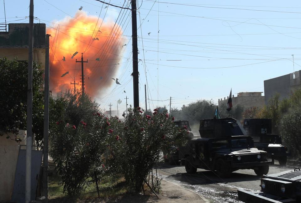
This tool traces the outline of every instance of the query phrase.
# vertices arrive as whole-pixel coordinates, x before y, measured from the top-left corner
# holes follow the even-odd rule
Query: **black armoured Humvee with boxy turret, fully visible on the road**
[[[200,168],[229,177],[233,171],[253,169],[257,175],[263,175],[273,164],[265,151],[254,148],[253,139],[246,136],[234,118],[201,120],[199,132],[202,138],[189,140],[186,150],[179,150],[185,157],[187,173],[196,173]]]

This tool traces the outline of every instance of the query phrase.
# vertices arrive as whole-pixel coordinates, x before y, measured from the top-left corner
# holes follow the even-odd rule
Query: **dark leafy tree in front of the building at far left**
[[[33,63],[33,133],[43,136],[44,92],[40,64]],[[18,134],[26,128],[28,62],[0,59],[0,131]]]

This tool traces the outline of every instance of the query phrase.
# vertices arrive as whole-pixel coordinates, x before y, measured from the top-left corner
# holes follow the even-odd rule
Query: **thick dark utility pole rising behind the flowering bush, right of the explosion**
[[[136,0],[131,0],[131,4],[132,4],[133,84],[134,84],[134,108],[135,108],[135,107],[139,107]]]

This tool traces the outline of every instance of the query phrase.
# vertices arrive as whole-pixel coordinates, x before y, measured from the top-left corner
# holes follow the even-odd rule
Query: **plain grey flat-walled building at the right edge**
[[[288,98],[292,91],[300,88],[300,72],[301,70],[298,70],[287,75],[263,81],[265,104],[277,93],[279,94],[279,100],[283,100],[284,98]]]

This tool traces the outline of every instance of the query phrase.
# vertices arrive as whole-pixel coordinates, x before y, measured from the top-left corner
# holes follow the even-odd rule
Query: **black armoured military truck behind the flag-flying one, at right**
[[[253,138],[256,148],[266,151],[268,158],[272,158],[273,154],[280,165],[286,165],[288,148],[282,145],[279,135],[272,134],[272,119],[245,119],[243,127],[247,135]]]

